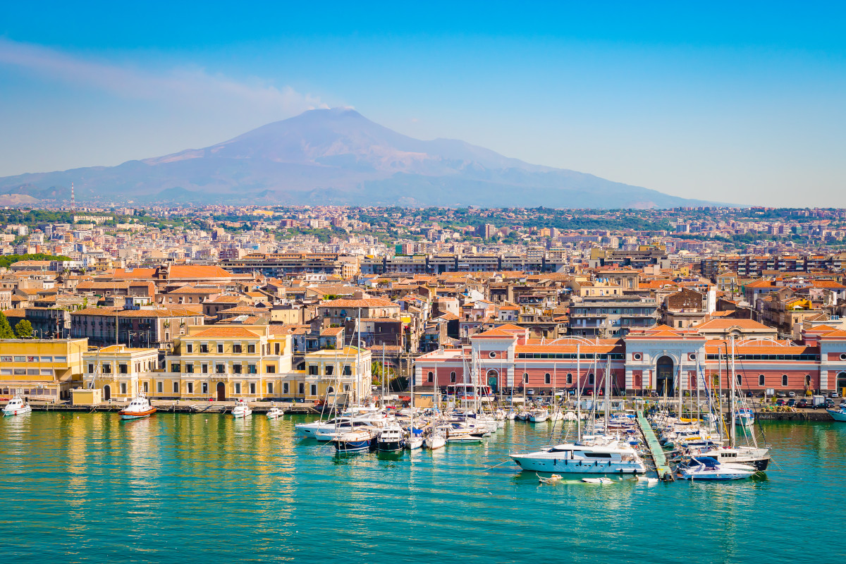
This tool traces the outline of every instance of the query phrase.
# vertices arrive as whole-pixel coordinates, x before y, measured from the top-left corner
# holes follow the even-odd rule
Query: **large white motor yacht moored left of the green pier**
[[[585,439],[587,439],[585,437]],[[510,455],[523,470],[574,474],[644,474],[637,451],[621,441],[579,441]]]

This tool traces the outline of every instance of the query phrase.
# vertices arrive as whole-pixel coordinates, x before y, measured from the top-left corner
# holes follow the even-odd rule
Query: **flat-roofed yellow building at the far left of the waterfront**
[[[0,395],[56,401],[82,383],[87,339],[0,340]]]

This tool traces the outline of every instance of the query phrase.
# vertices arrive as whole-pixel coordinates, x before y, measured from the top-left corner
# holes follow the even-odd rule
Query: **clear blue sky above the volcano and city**
[[[846,207],[843,3],[12,4],[0,175],[352,106],[667,194]]]

